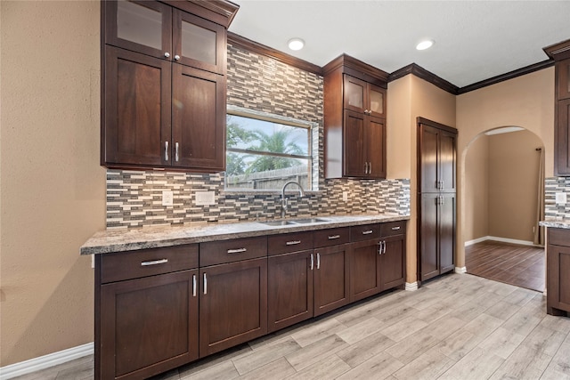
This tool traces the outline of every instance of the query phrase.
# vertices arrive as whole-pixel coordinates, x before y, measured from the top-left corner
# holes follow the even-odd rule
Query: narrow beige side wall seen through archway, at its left
[[[471,142],[465,158],[465,241],[489,235],[489,137]]]

